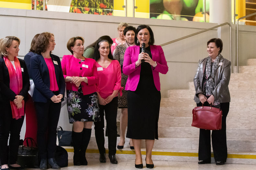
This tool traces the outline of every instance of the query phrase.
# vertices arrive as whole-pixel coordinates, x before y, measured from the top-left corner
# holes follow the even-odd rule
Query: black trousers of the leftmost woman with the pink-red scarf
[[[12,118],[10,102],[0,104],[0,160],[1,165],[16,164],[19,148],[20,130],[24,121],[24,116],[20,119]],[[9,151],[8,151],[8,138]]]

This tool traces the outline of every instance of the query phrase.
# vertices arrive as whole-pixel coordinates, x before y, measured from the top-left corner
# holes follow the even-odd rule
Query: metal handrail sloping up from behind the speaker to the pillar
[[[183,36],[181,38],[178,38],[176,40],[172,40],[170,42],[167,42],[167,43],[164,43],[164,44],[161,44],[161,46],[164,46],[164,45],[168,45],[168,44],[171,44],[171,43],[174,43],[174,42],[177,42],[177,41],[180,41],[180,40],[183,40],[185,38],[188,38],[188,37],[191,37],[191,36],[194,36],[194,35],[198,35],[198,34],[201,34],[201,33],[204,33],[206,31],[209,31],[209,30],[212,30],[212,29],[215,29],[217,27],[220,27],[220,26],[223,26],[223,25],[229,25],[229,28],[230,28],[230,62],[232,64],[232,27],[231,27],[231,24],[230,23],[223,23],[223,24],[220,24],[220,25],[217,25],[217,26],[214,26],[214,27],[211,27],[211,28],[208,28],[208,29],[205,29],[205,30],[202,30],[202,31],[199,31],[197,33],[193,33],[193,34],[190,34],[190,35],[187,35],[187,36]],[[232,72],[232,66],[231,66],[231,72]]]

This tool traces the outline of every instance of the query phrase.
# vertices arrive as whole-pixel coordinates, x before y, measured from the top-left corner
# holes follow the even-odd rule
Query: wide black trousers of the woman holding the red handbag
[[[202,106],[200,102],[197,106]],[[209,106],[207,102],[204,106]],[[212,131],[213,154],[216,161],[226,162],[227,160],[227,135],[226,135],[226,118],[229,111],[229,102],[221,103],[222,110],[222,128],[221,130]],[[211,161],[211,131],[200,129],[198,160]]]

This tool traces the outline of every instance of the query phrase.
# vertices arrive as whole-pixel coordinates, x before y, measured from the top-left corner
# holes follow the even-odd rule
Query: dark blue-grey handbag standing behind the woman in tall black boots
[[[72,131],[65,131],[61,126],[57,128],[59,146],[72,146]]]

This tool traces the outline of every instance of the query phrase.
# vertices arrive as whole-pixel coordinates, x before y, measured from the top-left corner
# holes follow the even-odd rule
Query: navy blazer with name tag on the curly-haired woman
[[[30,58],[30,76],[33,79],[35,84],[35,89],[33,92],[33,101],[46,103],[48,100],[51,100],[53,95],[62,94],[64,100],[65,94],[65,80],[62,73],[61,61],[60,58],[56,55],[51,54],[52,63],[55,69],[55,75],[59,91],[53,93],[50,90],[50,76],[49,69],[46,65],[46,62],[41,54],[36,54]],[[56,61],[58,64],[55,64],[53,61]]]

